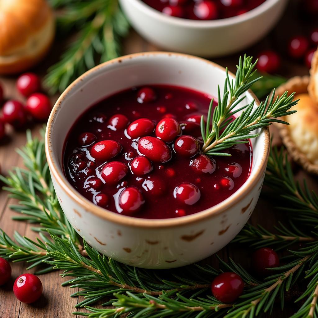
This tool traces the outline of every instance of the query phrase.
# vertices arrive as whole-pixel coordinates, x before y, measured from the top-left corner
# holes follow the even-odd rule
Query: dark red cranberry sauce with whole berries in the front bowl
[[[250,143],[200,154],[200,117],[211,98],[187,88],[152,85],[98,102],[65,143],[72,186],[101,207],[139,218],[174,218],[220,203],[246,181]],[[215,105],[214,105],[215,106]]]

